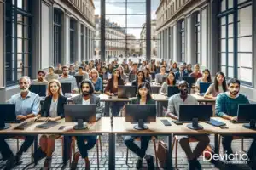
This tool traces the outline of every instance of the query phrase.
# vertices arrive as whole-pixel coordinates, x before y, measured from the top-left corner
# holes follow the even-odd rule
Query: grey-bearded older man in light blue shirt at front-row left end
[[[34,94],[28,90],[30,83],[29,77],[21,77],[19,81],[20,93],[14,94],[11,99],[9,99],[10,104],[15,104],[16,118],[20,121],[25,121],[26,119],[37,116],[39,112],[40,99],[38,94]],[[0,152],[2,153],[3,160],[8,160],[5,169],[15,167],[20,161],[22,154],[26,152],[35,139],[34,136],[25,136],[24,143],[21,145],[16,156],[14,156],[9,145],[4,140],[11,137],[12,136],[9,135],[0,137]]]

